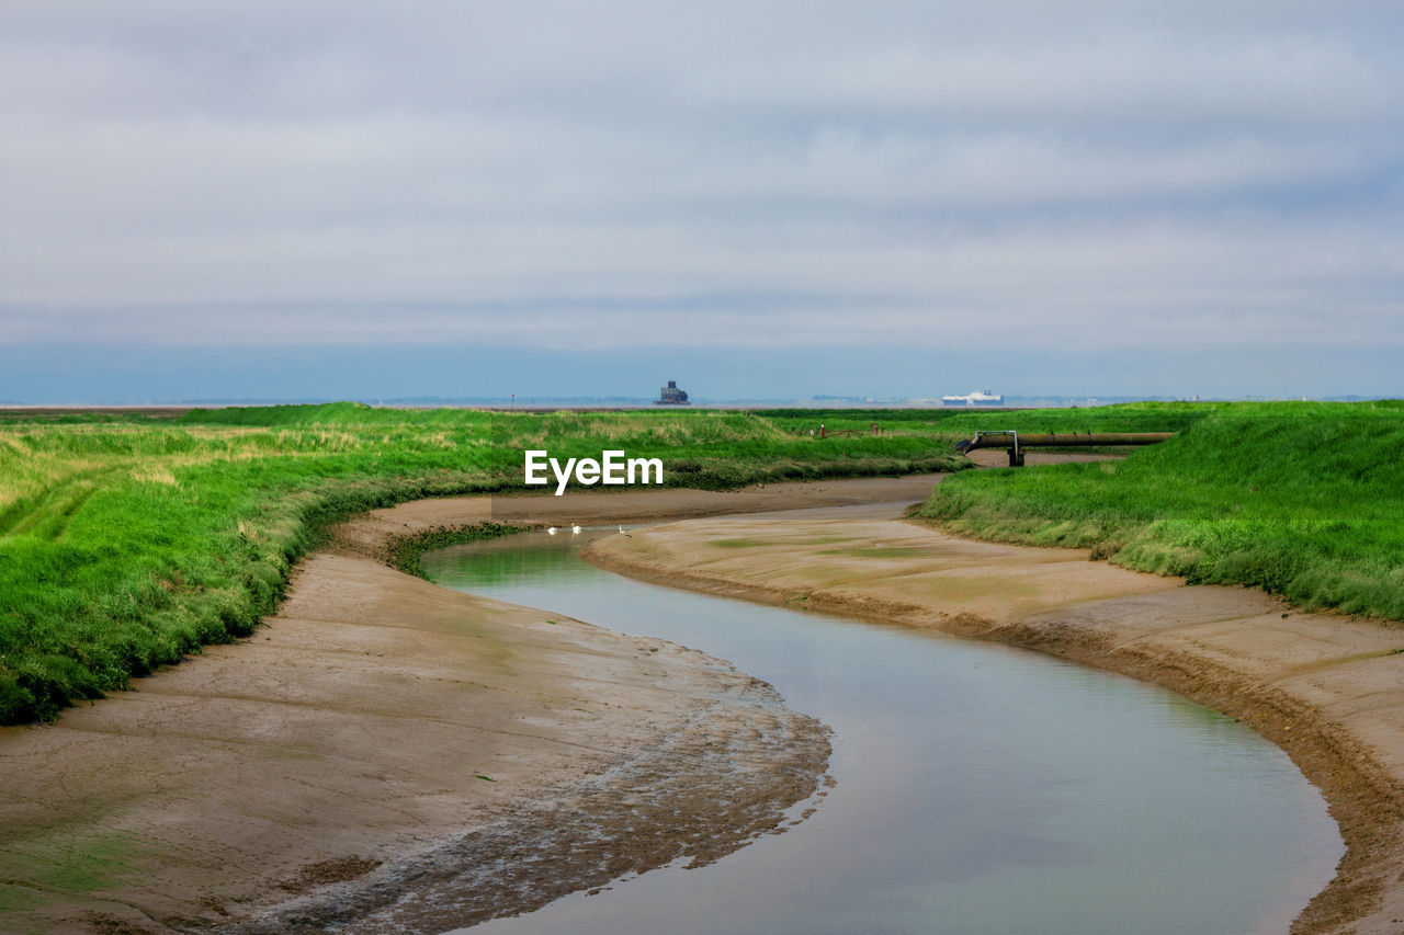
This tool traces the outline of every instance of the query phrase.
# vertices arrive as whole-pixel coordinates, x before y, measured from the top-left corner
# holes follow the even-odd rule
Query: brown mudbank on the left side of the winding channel
[[[715,859],[814,792],[821,724],[720,660],[375,556],[482,519],[911,503],[931,483],[475,497],[354,521],[251,639],[0,730],[0,928],[439,931]]]

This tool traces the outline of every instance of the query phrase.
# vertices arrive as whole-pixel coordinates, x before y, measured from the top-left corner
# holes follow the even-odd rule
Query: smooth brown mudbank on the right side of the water
[[[1238,717],[1324,792],[1346,841],[1335,880],[1292,931],[1404,931],[1404,630],[1085,552],[956,539],[900,514],[695,519],[584,555],[663,584],[1032,647]]]

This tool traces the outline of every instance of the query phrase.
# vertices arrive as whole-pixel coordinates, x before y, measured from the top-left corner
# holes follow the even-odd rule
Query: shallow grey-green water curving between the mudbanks
[[[424,566],[448,587],[736,663],[834,729],[838,782],[807,821],[715,865],[654,870],[475,935],[1258,935],[1285,932],[1344,851],[1280,750],[1171,692],[643,584],[576,556],[595,535],[607,532],[524,533]]]

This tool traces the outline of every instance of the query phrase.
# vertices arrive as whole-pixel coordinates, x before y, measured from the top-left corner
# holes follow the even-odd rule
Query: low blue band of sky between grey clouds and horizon
[[[132,404],[183,400],[657,399],[677,380],[694,400],[1007,397],[1393,399],[1394,348],[1314,366],[1306,352],[1234,348],[1047,352],[924,347],[556,352],[500,345],[204,348],[0,344],[0,400]]]

